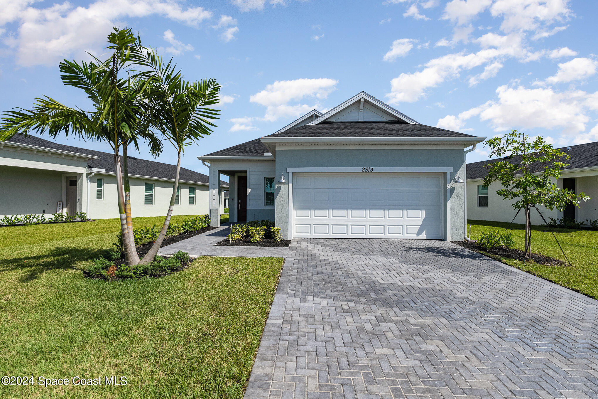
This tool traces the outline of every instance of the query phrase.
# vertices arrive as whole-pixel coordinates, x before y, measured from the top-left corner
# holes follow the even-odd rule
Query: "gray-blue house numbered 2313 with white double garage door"
[[[465,235],[466,147],[484,138],[419,124],[365,92],[276,133],[199,157],[210,215],[229,176],[231,221],[273,220],[283,238]]]

